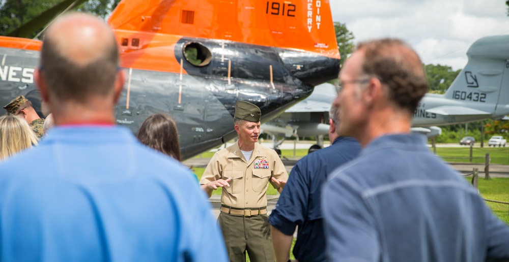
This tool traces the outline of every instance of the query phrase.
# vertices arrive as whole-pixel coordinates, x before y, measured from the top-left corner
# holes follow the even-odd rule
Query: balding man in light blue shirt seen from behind
[[[118,54],[93,16],[47,29],[35,79],[55,127],[0,163],[1,261],[227,261],[189,170],[115,125]]]

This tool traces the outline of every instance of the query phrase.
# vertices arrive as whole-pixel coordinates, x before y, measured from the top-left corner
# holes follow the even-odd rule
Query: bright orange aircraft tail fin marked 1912
[[[122,0],[114,29],[304,50],[340,58],[329,0]]]

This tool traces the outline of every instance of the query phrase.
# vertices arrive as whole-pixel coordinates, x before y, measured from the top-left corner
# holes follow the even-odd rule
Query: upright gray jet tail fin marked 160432
[[[467,65],[445,98],[475,103],[493,117],[509,114],[509,36],[481,38],[470,46],[467,56]]]

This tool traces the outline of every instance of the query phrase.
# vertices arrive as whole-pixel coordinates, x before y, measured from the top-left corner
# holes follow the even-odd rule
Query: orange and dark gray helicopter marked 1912
[[[236,136],[236,101],[258,105],[265,122],[339,71],[328,1],[122,0],[108,23],[127,72],[117,122],[136,133],[150,114],[171,115],[183,158]],[[40,47],[0,38],[0,105],[40,101]]]

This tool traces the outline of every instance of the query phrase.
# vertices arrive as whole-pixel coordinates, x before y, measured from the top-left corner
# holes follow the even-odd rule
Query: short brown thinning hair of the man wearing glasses
[[[387,89],[387,100],[413,114],[429,89],[417,53],[397,39],[363,42],[357,51],[363,54],[361,74],[378,78]]]

